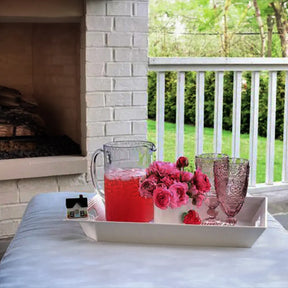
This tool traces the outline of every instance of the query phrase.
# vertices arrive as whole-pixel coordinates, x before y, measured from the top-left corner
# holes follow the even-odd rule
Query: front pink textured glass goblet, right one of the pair
[[[241,210],[247,195],[249,161],[243,158],[229,158],[229,169],[219,169],[215,163],[215,190],[222,210],[227,215],[226,224],[235,225],[235,216]]]

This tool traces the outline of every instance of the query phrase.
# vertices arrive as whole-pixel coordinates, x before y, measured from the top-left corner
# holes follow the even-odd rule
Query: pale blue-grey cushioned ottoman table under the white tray
[[[65,199],[78,195],[30,201],[0,263],[1,288],[288,287],[288,233],[270,215],[252,248],[100,243],[63,221]]]

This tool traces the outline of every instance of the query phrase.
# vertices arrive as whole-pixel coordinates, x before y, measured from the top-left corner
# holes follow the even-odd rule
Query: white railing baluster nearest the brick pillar
[[[156,159],[164,160],[165,72],[157,73]]]

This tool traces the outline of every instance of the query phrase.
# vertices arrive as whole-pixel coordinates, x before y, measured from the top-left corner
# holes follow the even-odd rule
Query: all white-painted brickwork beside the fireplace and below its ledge
[[[148,0],[87,0],[81,35],[83,151],[115,140],[146,139]],[[64,59],[65,60],[65,59]],[[69,72],[69,71],[68,71]],[[97,176],[103,179],[103,159]],[[88,175],[1,181],[0,238],[12,236],[38,193],[92,192]]]

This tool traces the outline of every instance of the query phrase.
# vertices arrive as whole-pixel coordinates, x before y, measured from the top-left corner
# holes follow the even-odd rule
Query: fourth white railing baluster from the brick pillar
[[[214,152],[221,153],[224,72],[215,72]]]

